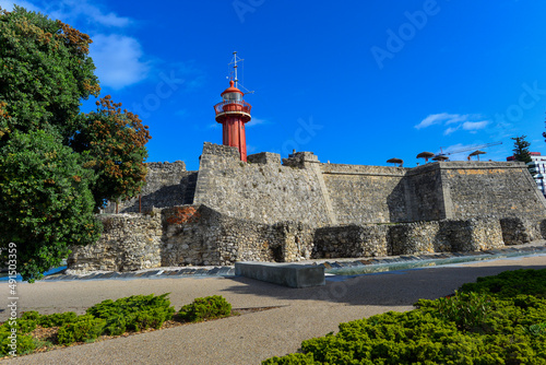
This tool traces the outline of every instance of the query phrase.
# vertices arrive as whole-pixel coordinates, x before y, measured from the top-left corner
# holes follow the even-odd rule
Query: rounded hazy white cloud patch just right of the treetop
[[[119,34],[99,34],[93,37],[93,58],[100,84],[119,90],[143,80],[150,69],[141,60],[141,45],[134,38]]]

